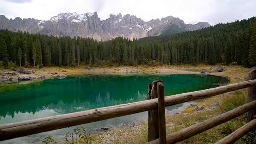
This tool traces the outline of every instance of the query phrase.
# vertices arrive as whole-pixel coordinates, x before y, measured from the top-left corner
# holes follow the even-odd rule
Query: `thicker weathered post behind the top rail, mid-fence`
[[[151,92],[148,94],[150,99],[157,98],[157,83],[163,82],[162,80],[155,80],[152,82]],[[148,90],[150,86],[148,85]],[[159,122],[158,122],[158,109],[149,110],[148,112],[148,142],[159,138]]]

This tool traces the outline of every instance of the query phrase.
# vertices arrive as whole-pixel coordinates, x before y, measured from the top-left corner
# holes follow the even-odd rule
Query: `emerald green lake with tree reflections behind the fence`
[[[4,87],[0,93],[0,124],[21,122],[60,114],[113,106],[146,100],[148,84],[163,80],[165,95],[180,94],[196,90],[214,88],[226,84],[226,78],[188,74],[171,75],[87,75],[70,76],[64,79],[43,80],[27,85],[15,84],[15,88]],[[2,87],[0,86],[0,89]],[[190,103],[166,107],[166,114],[179,112]],[[147,112],[102,120],[85,124],[86,132],[99,131],[101,127],[129,125],[147,120]],[[64,135],[77,126],[43,132],[22,138],[0,142],[0,144],[25,144],[42,142],[47,134],[54,139]]]

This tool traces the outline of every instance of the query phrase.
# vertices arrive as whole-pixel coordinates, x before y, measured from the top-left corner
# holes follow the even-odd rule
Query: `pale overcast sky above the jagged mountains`
[[[47,20],[62,12],[95,11],[101,20],[121,13],[144,21],[174,16],[186,24],[215,25],[256,16],[256,0],[0,0],[0,15],[12,19]]]

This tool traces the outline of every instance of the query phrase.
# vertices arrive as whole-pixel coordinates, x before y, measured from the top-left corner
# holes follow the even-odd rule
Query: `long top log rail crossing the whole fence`
[[[228,84],[217,88],[210,88],[196,92],[188,92],[183,94],[176,94],[173,96],[166,96],[164,99],[165,106],[172,106],[183,102],[208,98],[218,94],[224,94],[234,90],[256,86],[256,80],[249,80],[236,84]],[[100,120],[126,116],[139,112],[144,112],[158,108],[158,99],[144,100],[141,102],[133,102],[128,104],[120,104],[116,106],[109,106],[104,108],[96,108],[82,112],[74,112],[70,114],[63,114],[58,116],[50,116],[46,118],[39,118],[36,120],[26,120],[23,122],[16,122],[11,124],[0,125],[0,141],[37,134],[40,132],[47,132],[57,130],[60,128],[67,128],[80,124],[87,124]]]

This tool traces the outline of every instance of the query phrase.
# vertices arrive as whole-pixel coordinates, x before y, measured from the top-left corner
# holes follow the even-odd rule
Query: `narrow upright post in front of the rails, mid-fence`
[[[157,83],[157,96],[158,96],[159,140],[160,140],[160,144],[166,144],[164,84],[162,82]]]

